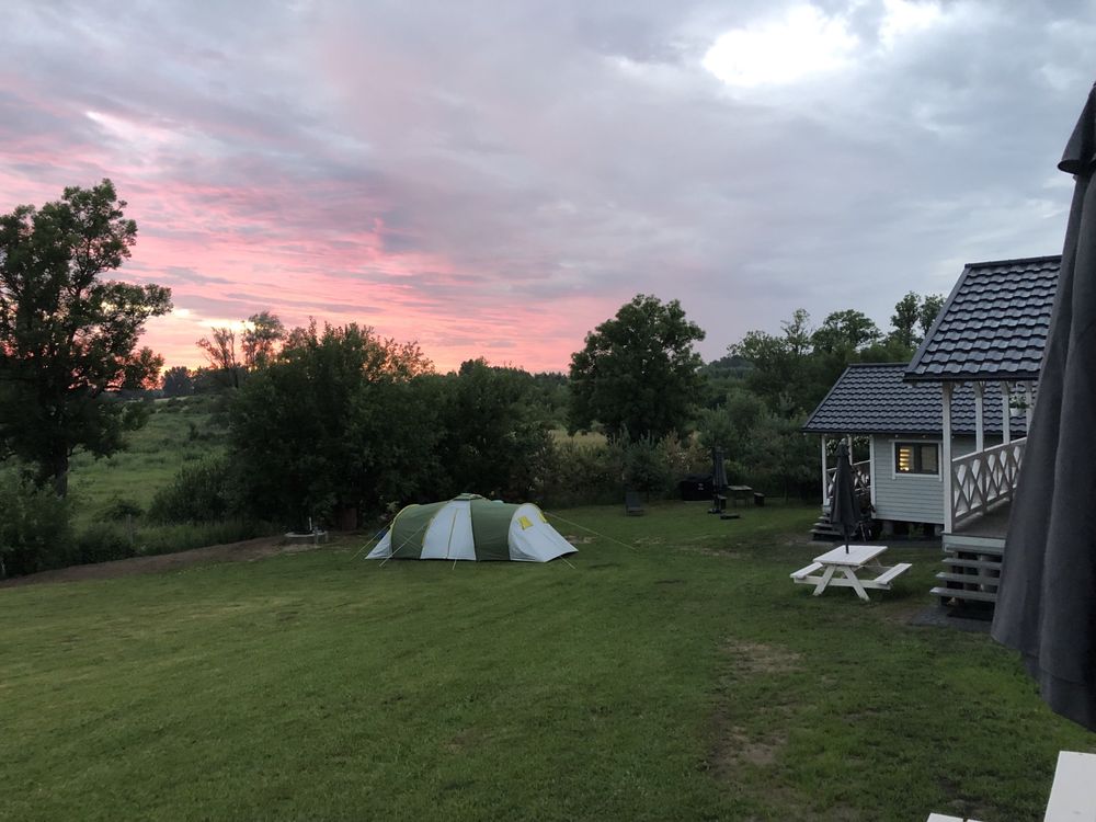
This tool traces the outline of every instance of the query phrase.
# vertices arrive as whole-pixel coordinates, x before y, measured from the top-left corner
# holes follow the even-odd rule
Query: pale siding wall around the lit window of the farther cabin
[[[938,437],[875,436],[875,463],[871,486],[876,496],[876,518],[909,523],[944,524],[944,478],[894,471],[894,443],[939,443]],[[990,437],[986,437],[986,447]],[[956,437],[951,456],[961,457],[974,450],[974,437]],[[943,463],[944,448],[939,450]],[[944,466],[940,466],[941,470]]]

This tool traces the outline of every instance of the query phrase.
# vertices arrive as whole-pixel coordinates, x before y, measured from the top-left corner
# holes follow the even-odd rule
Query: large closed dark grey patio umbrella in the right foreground
[[[1058,168],[1075,175],[992,633],[1051,709],[1096,730],[1096,88]]]

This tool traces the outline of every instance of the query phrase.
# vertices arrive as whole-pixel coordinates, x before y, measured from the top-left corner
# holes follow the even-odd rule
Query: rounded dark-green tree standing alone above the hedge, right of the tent
[[[677,300],[639,294],[586,334],[571,355],[572,430],[595,421],[612,437],[661,438],[684,430],[698,398],[700,327]]]

